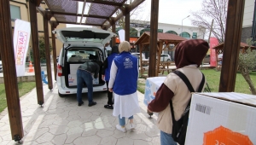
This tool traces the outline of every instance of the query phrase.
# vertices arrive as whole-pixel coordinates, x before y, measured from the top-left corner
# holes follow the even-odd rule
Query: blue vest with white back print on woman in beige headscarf
[[[122,52],[113,59],[118,68],[113,92],[125,96],[137,91],[138,67],[137,57],[130,52]]]

